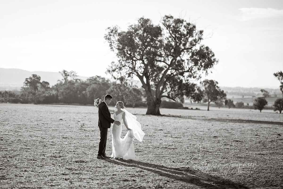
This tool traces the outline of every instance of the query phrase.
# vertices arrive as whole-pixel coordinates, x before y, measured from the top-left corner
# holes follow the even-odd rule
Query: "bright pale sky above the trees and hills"
[[[219,59],[208,79],[220,86],[278,87],[283,71],[283,1],[0,0],[0,67],[107,75],[115,60],[105,29],[171,14],[204,30]]]

